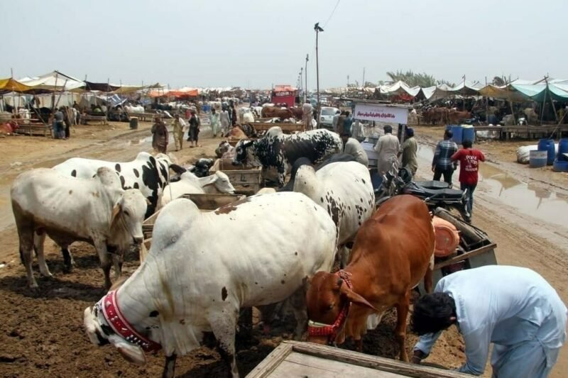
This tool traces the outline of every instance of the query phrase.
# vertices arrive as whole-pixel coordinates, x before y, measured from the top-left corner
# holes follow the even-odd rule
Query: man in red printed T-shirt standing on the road
[[[459,161],[459,186],[461,190],[467,191],[466,210],[469,217],[466,221],[471,222],[471,211],[474,207],[474,190],[477,186],[477,172],[479,162],[485,161],[483,152],[476,148],[471,148],[471,140],[464,140],[461,145],[463,148],[452,155],[452,162]]]

